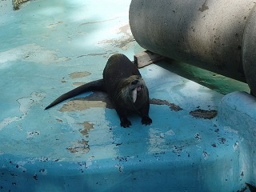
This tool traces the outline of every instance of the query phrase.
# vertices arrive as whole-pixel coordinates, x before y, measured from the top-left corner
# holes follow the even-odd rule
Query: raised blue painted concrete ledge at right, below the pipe
[[[218,121],[241,138],[239,164],[255,185],[256,98],[246,92],[227,94],[218,106]]]

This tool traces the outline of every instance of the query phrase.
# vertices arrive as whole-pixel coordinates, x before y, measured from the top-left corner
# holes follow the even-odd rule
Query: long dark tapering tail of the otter
[[[52,106],[57,105],[60,102],[65,101],[68,98],[73,98],[74,96],[77,96],[78,94],[82,94],[86,91],[90,91],[90,90],[102,90],[102,91],[106,91],[105,88],[105,84],[103,79],[99,79],[96,80],[94,82],[88,82],[82,86],[78,86],[77,88],[75,88],[74,90],[70,90],[69,92],[67,92],[66,94],[62,94],[62,96],[56,98],[54,100],[54,102],[50,103],[49,106],[46,106],[46,109],[49,109]]]

